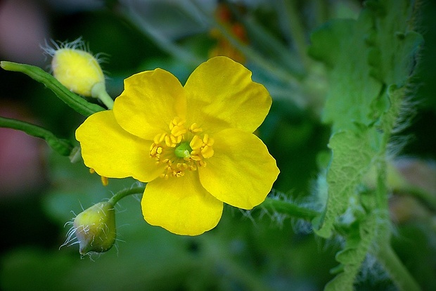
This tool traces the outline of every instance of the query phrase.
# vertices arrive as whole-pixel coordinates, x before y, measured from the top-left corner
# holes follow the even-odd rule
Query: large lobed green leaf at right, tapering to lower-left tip
[[[398,21],[413,15],[409,1],[400,2],[368,2],[357,20],[333,20],[312,34],[309,53],[330,68],[323,121],[332,125],[333,155],[327,205],[317,225],[323,237],[332,234],[371,163],[385,158],[399,117],[404,82],[421,44],[407,24],[411,20]]]

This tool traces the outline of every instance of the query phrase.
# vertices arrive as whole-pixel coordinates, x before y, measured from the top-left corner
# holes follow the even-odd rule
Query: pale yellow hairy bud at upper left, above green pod
[[[105,77],[98,60],[86,51],[66,46],[53,53],[53,76],[70,91],[91,97],[96,84],[104,87]]]

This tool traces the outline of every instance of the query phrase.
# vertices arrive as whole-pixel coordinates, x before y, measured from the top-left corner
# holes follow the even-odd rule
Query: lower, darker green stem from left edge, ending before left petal
[[[71,153],[72,144],[70,143],[70,141],[63,138],[58,138],[51,131],[48,131],[47,129],[44,129],[42,127],[38,127],[37,125],[16,119],[0,117],[0,127],[17,129],[20,131],[24,131],[30,136],[42,138],[51,148],[53,148],[53,150],[56,150],[56,152],[60,153],[60,155],[70,155]]]

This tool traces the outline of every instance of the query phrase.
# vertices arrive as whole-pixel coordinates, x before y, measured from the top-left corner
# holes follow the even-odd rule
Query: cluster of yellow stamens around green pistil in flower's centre
[[[205,159],[214,155],[213,143],[214,139],[203,134],[198,124],[193,123],[187,128],[184,119],[175,117],[169,123],[168,131],[153,139],[150,157],[156,160],[156,164],[165,164],[160,175],[162,178],[180,177],[185,171],[206,167]]]

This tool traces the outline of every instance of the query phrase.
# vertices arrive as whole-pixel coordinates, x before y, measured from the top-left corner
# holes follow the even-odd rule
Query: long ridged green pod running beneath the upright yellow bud
[[[79,112],[81,115],[87,117],[95,112],[105,110],[101,106],[89,103],[88,101],[84,100],[84,98],[72,93],[65,86],[63,86],[63,84],[60,84],[55,77],[42,70],[40,67],[6,61],[1,61],[0,66],[7,71],[22,72],[32,79],[46,85],[46,87],[53,91],[58,98],[60,98],[72,109]]]

